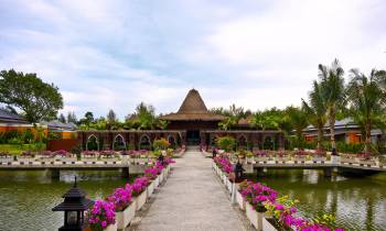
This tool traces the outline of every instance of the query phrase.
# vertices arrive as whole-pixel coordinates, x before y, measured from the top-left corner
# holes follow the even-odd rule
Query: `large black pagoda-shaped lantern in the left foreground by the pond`
[[[52,211],[64,211],[64,226],[60,231],[82,231],[85,228],[85,211],[94,205],[86,198],[86,193],[77,187],[76,177],[74,186],[63,195],[64,201],[55,206]]]

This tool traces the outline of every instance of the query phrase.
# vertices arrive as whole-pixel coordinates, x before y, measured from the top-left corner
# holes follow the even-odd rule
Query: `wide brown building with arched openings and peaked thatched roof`
[[[152,142],[167,139],[174,145],[213,146],[221,136],[233,136],[238,146],[245,148],[274,148],[283,146],[281,131],[260,131],[255,129],[229,130],[218,129],[218,123],[226,118],[207,110],[204,100],[196,89],[191,89],[175,113],[160,118],[168,121],[165,130],[114,130],[78,131],[78,139],[84,150],[149,150]]]

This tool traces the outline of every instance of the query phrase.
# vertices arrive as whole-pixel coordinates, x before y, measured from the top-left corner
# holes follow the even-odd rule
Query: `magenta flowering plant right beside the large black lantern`
[[[96,200],[89,211],[88,223],[93,231],[101,231],[107,226],[116,222],[114,202]]]

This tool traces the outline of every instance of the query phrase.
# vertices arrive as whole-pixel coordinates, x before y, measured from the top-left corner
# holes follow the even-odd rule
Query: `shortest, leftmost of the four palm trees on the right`
[[[308,121],[307,121],[307,114],[304,110],[301,108],[296,108],[296,107],[287,107],[286,113],[288,116],[289,122],[292,124],[296,136],[298,140],[298,145],[299,147],[302,147],[302,136],[303,136],[303,130],[308,127]]]

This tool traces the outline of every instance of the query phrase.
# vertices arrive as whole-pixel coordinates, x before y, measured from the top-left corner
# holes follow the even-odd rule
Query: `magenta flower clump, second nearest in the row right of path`
[[[265,212],[266,202],[275,202],[277,197],[277,191],[261,183],[248,182],[247,186],[242,190],[242,195],[246,201],[248,201],[256,211]]]

